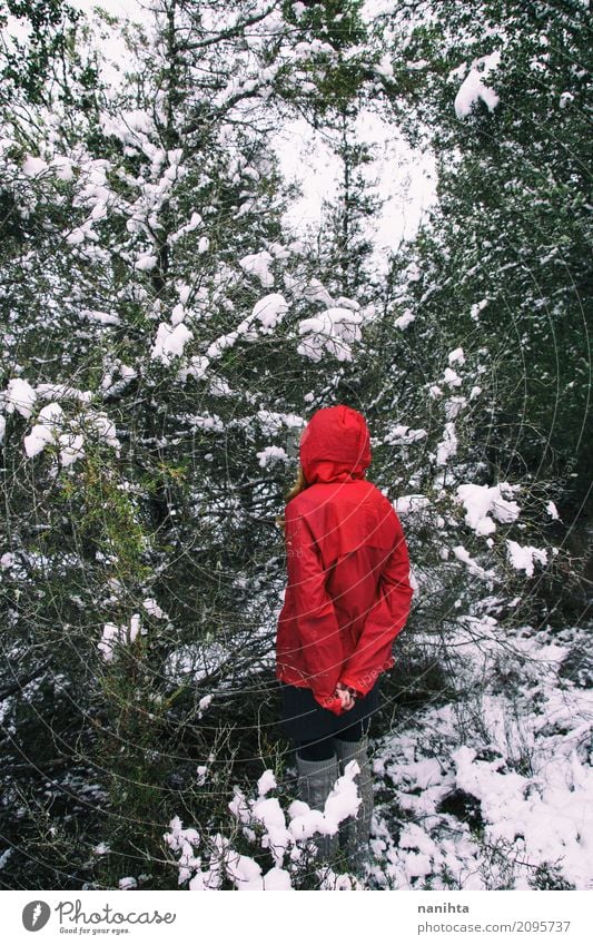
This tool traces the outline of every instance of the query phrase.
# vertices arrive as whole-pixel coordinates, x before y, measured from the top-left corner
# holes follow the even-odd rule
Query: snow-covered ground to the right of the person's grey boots
[[[593,691],[559,675],[586,634],[522,632],[492,636],[483,689],[377,740],[372,887],[593,887]]]

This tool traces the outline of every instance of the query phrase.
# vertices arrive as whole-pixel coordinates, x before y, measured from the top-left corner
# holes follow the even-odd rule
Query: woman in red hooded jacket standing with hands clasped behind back
[[[379,675],[394,663],[392,643],[409,613],[409,559],[391,502],[365,479],[370,439],[362,414],[342,404],[318,410],[299,456],[278,519],[288,573],[276,638],[283,725],[309,806],[323,810],[345,765],[358,762],[356,820],[317,846],[330,857],[339,843],[360,868],[373,815],[367,731]]]

